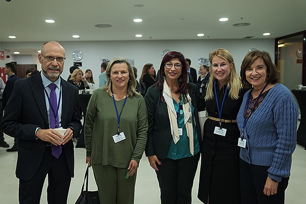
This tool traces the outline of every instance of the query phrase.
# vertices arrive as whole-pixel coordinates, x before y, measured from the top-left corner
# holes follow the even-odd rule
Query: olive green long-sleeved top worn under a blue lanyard
[[[123,101],[116,101],[118,114]],[[87,107],[85,122],[86,156],[91,164],[127,168],[133,159],[139,163],[147,140],[147,110],[142,96],[127,97],[120,117],[120,132],[125,140],[115,143],[117,114],[113,97],[99,88],[92,94]]]

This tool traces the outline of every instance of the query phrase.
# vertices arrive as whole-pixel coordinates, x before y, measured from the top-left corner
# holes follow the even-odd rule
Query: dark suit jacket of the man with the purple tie
[[[82,124],[79,113],[78,88],[61,78],[62,85],[62,127],[73,128],[73,137],[79,135]],[[18,159],[16,176],[30,180],[37,172],[46,150],[47,142],[35,137],[36,128],[49,129],[44,90],[40,74],[15,82],[3,117],[3,132],[18,138]],[[62,147],[68,168],[73,177],[73,142]]]

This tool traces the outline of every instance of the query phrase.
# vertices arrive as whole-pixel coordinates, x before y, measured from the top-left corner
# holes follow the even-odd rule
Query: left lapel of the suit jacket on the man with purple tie
[[[33,92],[33,97],[35,98],[35,101],[36,101],[36,105],[44,121],[46,122],[46,124],[49,124],[45,96],[44,96],[43,85],[42,85],[40,73],[33,76],[32,83],[30,84],[30,86]]]

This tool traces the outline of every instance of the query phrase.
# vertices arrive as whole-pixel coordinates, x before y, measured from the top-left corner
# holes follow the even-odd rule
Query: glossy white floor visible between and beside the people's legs
[[[6,141],[12,146],[13,138],[5,136]],[[15,165],[17,152],[7,152],[6,148],[0,147],[0,203],[17,204],[18,203],[18,180],[15,177]],[[73,204],[81,191],[84,173],[86,170],[85,164],[85,149],[75,148],[75,177],[71,181],[68,203]],[[201,203],[197,195],[198,187],[198,171],[196,173],[192,203]],[[226,171],[224,172],[226,173]],[[46,202],[46,185],[45,182],[41,203]],[[306,200],[306,150],[297,145],[292,162],[291,178],[286,191],[286,203],[302,204]],[[96,190],[92,171],[89,177],[89,190]],[[136,204],[157,204],[160,203],[159,186],[156,179],[156,174],[148,165],[147,159],[142,158],[137,175],[135,203]],[[222,196],[222,193],[220,194]]]

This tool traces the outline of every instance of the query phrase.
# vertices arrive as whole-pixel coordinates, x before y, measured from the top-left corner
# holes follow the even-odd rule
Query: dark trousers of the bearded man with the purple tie
[[[48,175],[48,204],[66,204],[71,182],[66,158],[62,152],[56,159],[51,152],[51,146],[46,147],[42,163],[30,181],[19,179],[19,204],[39,204],[43,184]],[[26,168],[26,167],[25,167]]]

